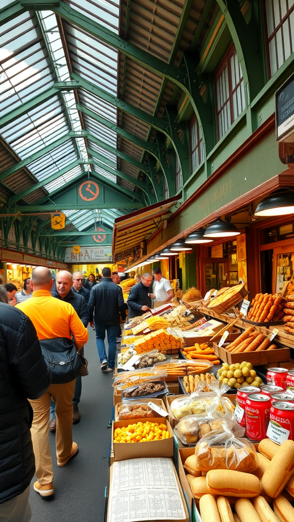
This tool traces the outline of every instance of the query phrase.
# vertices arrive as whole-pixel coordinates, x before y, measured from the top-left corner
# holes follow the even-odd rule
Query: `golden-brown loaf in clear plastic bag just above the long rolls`
[[[210,446],[206,440],[198,442],[195,447],[196,469],[233,469],[251,472],[257,468],[256,452],[250,446],[233,445]]]

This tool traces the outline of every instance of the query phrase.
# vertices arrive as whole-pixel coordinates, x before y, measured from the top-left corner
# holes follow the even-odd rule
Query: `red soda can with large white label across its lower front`
[[[268,438],[277,444],[294,440],[294,403],[290,401],[273,402],[269,412]]]

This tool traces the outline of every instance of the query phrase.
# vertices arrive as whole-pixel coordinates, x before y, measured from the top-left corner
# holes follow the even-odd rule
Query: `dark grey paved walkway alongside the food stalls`
[[[78,454],[63,468],[56,464],[55,434],[50,433],[54,470],[54,496],[48,499],[30,491],[31,522],[103,522],[111,430],[107,429],[113,405],[112,373],[101,372],[95,334],[88,327],[85,357],[89,375],[82,377],[81,422],[73,426]],[[118,345],[120,346],[120,345]]]

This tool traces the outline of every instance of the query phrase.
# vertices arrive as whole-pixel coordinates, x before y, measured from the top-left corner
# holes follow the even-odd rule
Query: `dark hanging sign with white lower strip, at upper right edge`
[[[276,138],[291,133],[294,129],[294,75],[276,92]],[[294,134],[294,133],[293,133]],[[294,141],[294,135],[293,135]]]

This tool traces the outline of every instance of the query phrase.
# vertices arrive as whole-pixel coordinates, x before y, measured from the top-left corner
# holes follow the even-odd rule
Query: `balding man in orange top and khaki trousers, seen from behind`
[[[80,349],[88,340],[88,331],[71,304],[53,298],[50,293],[52,282],[49,268],[35,268],[31,277],[32,297],[18,304],[17,308],[31,319],[39,340],[57,337],[72,339],[74,336],[75,346]],[[31,435],[38,478],[33,488],[41,496],[49,496],[54,493],[49,444],[51,397],[56,405],[57,465],[65,466],[77,453],[77,444],[72,439],[74,387],[75,379],[66,384],[51,384],[44,395],[37,400],[30,401],[33,409]]]

